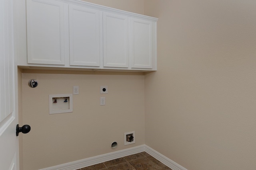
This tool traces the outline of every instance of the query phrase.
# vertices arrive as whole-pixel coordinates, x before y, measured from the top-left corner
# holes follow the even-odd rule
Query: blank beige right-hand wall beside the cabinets
[[[144,14],[159,18],[146,145],[188,170],[256,167],[255,9],[255,0],[145,0]]]

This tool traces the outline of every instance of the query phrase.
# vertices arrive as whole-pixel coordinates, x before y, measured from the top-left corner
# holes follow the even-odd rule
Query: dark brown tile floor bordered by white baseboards
[[[172,170],[148,154],[140,152],[130,156],[110,160],[78,170]]]

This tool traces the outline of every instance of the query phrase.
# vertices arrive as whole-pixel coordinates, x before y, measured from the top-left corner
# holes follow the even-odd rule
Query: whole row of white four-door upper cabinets
[[[20,0],[18,65],[155,71],[157,18],[80,0]]]

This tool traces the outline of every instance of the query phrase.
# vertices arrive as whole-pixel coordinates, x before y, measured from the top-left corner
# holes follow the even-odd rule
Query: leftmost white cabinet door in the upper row
[[[29,64],[64,65],[64,4],[55,0],[27,0]]]

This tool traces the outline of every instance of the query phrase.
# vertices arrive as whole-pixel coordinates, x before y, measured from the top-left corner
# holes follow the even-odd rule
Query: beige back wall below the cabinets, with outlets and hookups
[[[22,74],[23,122],[31,126],[31,131],[23,135],[23,170],[47,168],[145,143],[144,75],[27,71]],[[36,88],[28,86],[31,79],[38,81]],[[108,94],[103,95],[100,86],[104,85],[108,86]],[[49,94],[71,94],[73,86],[79,86],[79,95],[73,95],[73,112],[49,115]],[[100,106],[101,96],[106,97],[106,106]],[[129,131],[135,131],[136,143],[124,146],[124,133]],[[110,148],[114,141],[118,143],[115,150]]]

